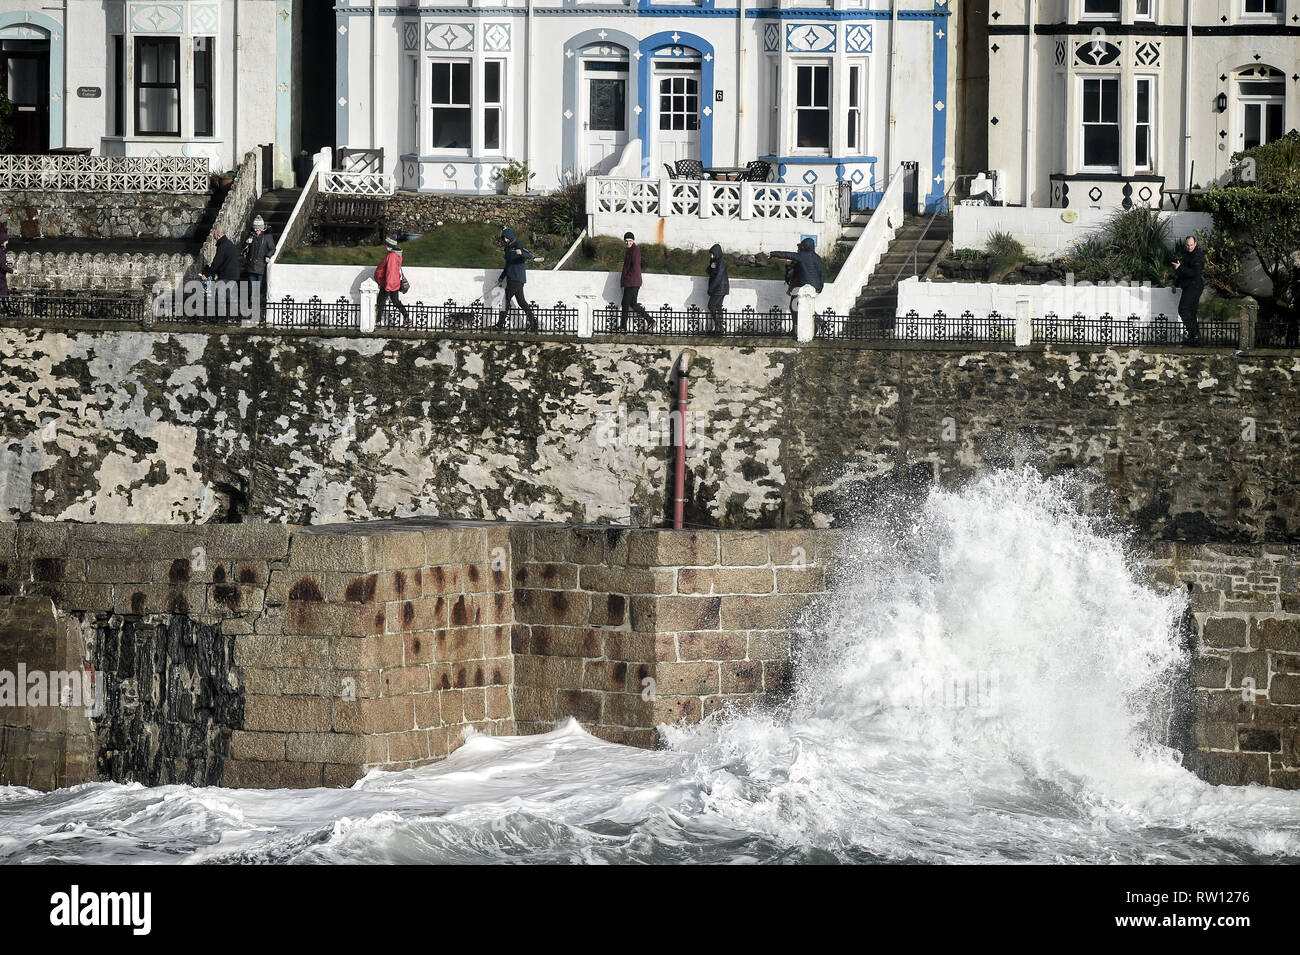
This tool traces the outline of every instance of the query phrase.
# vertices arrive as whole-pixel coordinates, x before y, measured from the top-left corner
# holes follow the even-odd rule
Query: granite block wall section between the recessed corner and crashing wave
[[[833,531],[517,528],[515,720],[576,716],[651,746],[655,728],[762,702],[789,676],[789,629],[824,590]]]

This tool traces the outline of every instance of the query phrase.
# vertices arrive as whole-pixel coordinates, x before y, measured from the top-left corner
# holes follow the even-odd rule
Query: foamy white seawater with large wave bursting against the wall
[[[1295,863],[1300,793],[1162,745],[1180,594],[1069,482],[997,473],[863,531],[779,707],[650,752],[576,722],[351,789],[0,789],[36,863]]]

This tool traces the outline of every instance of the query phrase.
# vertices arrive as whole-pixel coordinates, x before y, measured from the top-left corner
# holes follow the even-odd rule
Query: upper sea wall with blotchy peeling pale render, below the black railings
[[[684,347],[6,327],[0,516],[654,525]],[[841,525],[1034,461],[1149,539],[1300,541],[1294,352],[690,347],[693,524]]]

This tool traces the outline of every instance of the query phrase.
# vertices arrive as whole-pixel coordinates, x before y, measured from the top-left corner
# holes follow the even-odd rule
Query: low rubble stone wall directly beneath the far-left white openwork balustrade
[[[212,196],[0,191],[0,223],[25,239],[195,239]]]

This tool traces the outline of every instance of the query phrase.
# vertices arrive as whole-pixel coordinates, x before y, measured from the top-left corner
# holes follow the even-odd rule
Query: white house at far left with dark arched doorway
[[[14,152],[207,157],[291,178],[302,0],[0,0]],[[328,8],[318,16],[329,16]]]

